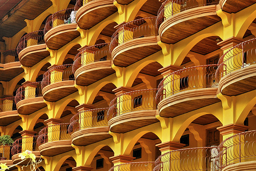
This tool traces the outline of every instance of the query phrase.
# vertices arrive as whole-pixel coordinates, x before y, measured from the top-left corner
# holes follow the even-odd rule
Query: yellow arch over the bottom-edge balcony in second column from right
[[[180,121],[180,123],[182,123],[182,124],[174,125],[174,127],[179,127],[179,129],[175,132],[175,135],[173,136],[173,140],[172,141],[179,142],[180,137],[182,136],[182,134],[184,133],[186,128],[189,126],[189,124],[191,122],[193,122],[195,119],[199,118],[200,116],[207,115],[207,114],[214,115],[219,121],[222,120],[221,119],[222,115],[221,116],[220,116],[220,114],[218,115],[218,112],[216,112],[216,113],[200,112],[200,113],[191,115],[190,117],[185,118],[184,121]]]

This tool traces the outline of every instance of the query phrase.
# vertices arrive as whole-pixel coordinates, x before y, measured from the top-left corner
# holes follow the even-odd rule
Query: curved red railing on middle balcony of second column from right
[[[218,83],[215,80],[217,68],[217,64],[196,66],[169,74],[159,83],[156,95],[157,104],[161,100],[182,91],[217,87]]]

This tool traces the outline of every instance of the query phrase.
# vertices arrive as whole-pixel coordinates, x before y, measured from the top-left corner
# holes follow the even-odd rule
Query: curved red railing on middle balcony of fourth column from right
[[[85,66],[88,63],[111,60],[112,58],[109,52],[109,45],[109,43],[98,44],[86,47],[79,51],[73,64],[73,73],[75,73],[78,68]]]

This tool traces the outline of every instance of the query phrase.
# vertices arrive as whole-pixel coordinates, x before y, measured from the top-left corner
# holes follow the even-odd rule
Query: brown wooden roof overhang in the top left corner
[[[24,19],[35,19],[52,5],[50,0],[0,1],[0,41],[3,36],[12,37],[26,27]]]

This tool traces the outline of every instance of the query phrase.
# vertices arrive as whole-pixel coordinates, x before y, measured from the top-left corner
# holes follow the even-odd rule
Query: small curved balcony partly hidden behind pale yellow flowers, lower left
[[[18,138],[13,142],[13,147],[11,149],[13,164],[17,164],[18,162],[22,161],[18,155],[26,150],[32,151],[37,161],[40,159],[41,155],[36,144],[37,138],[38,136],[23,137]],[[29,160],[25,160],[19,165],[27,165],[28,162]]]

